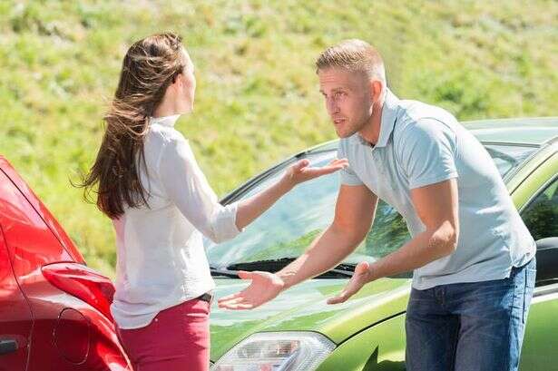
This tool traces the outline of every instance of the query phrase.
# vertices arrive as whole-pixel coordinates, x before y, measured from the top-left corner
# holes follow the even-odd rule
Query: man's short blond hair
[[[386,69],[382,56],[365,41],[344,40],[337,45],[328,47],[316,61],[316,73],[336,67],[366,73],[369,79],[377,79],[384,85],[386,84]]]

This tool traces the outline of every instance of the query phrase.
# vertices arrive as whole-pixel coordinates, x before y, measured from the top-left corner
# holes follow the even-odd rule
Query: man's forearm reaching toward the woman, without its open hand
[[[331,225],[310,244],[307,251],[287,267],[277,272],[285,282],[285,289],[308,278],[316,277],[337,266],[357,247],[364,236],[350,236]]]

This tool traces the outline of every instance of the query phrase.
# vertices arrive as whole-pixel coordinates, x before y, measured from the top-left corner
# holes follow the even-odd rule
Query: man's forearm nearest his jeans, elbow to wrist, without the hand
[[[405,273],[444,258],[455,250],[457,232],[445,225],[435,231],[426,230],[400,249],[370,265],[372,280]]]

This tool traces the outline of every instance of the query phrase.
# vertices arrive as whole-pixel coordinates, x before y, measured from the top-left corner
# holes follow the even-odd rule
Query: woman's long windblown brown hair
[[[181,37],[171,33],[154,34],[132,44],[124,57],[118,88],[103,118],[101,148],[93,167],[77,185],[84,188],[85,200],[92,201],[91,192],[95,192],[97,207],[111,219],[121,216],[126,205],[149,206],[139,171],[140,166],[147,171],[143,139],[149,117],[185,65]]]

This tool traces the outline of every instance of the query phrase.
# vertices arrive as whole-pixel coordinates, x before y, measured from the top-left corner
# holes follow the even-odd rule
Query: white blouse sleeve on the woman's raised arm
[[[185,138],[173,138],[164,145],[157,169],[169,199],[203,235],[219,243],[240,233],[238,203],[220,205]]]

